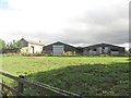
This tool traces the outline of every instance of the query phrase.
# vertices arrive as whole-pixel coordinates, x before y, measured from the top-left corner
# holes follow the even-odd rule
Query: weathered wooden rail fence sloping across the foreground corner
[[[2,90],[3,90],[3,88],[5,88],[5,89],[12,91],[12,94],[15,95],[15,96],[23,96],[23,97],[25,96],[26,97],[26,95],[24,95],[24,85],[27,85],[29,87],[38,88],[41,93],[45,93],[45,96],[50,96],[51,95],[51,96],[66,96],[66,97],[82,98],[78,94],[66,91],[66,90],[57,88],[57,87],[51,87],[47,84],[41,84],[39,82],[31,81],[28,78],[25,78],[22,75],[20,75],[17,77],[17,76],[13,76],[9,73],[4,73],[4,72],[0,72],[0,74],[5,76],[5,77],[12,78],[12,79],[14,79],[19,83],[17,84],[17,89],[15,89],[13,87],[10,87],[10,86],[5,85],[3,82],[0,82],[0,85],[2,86]]]

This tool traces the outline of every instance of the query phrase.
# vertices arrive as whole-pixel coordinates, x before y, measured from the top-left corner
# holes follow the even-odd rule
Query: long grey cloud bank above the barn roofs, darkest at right
[[[58,40],[74,45],[129,42],[128,9],[122,7],[122,3],[106,9],[94,8],[87,11],[83,17],[72,19],[69,21],[69,23],[83,23],[90,28],[83,30],[64,28],[62,32],[53,34],[36,32],[32,34],[24,34],[24,36],[37,37],[43,39],[46,44]],[[13,33],[13,35],[16,36],[20,34],[23,35],[23,33]]]

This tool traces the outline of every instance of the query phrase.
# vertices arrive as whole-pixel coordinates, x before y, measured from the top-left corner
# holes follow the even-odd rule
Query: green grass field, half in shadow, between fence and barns
[[[4,56],[2,70],[82,96],[128,96],[128,62],[126,57]]]

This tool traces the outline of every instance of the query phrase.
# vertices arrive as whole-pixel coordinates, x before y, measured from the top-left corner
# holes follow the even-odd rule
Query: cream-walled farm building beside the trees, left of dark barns
[[[44,44],[40,41],[26,40],[22,38],[20,42],[22,44],[22,53],[40,53],[43,51]]]

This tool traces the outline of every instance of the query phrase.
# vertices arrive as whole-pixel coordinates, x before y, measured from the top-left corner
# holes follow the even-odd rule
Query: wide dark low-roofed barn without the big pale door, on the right
[[[87,54],[87,56],[97,56],[97,54],[123,56],[124,48],[109,45],[109,44],[97,44],[97,45],[85,47],[83,49],[83,54]]]

